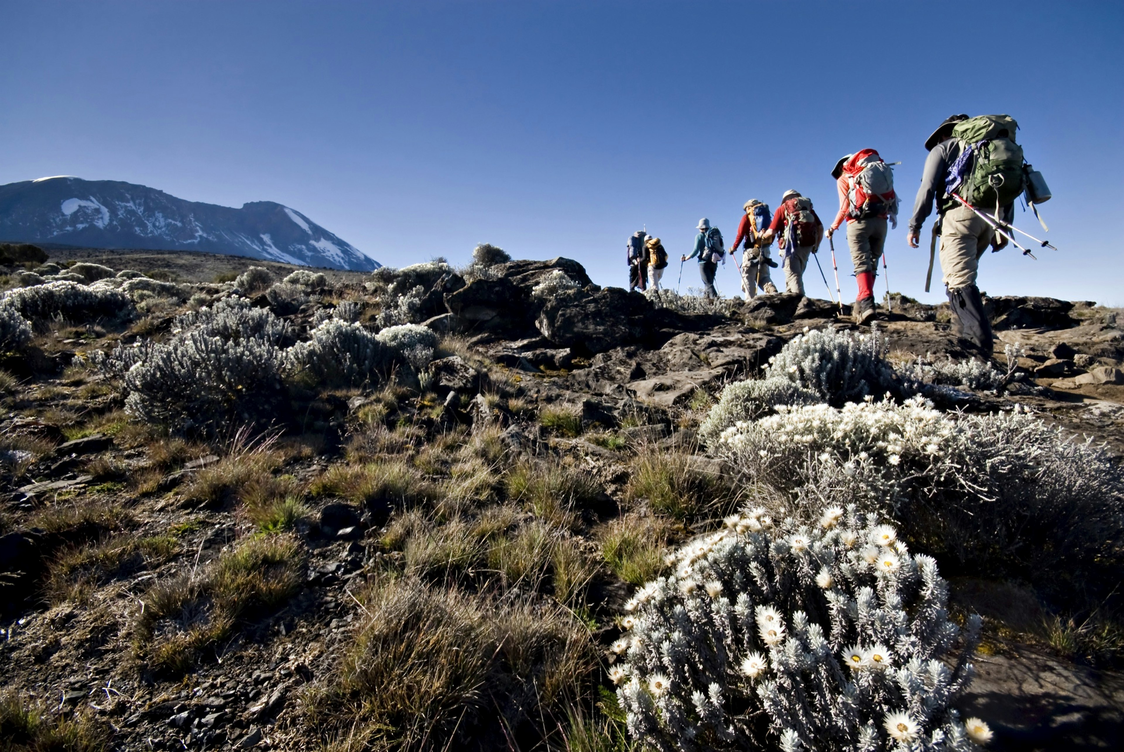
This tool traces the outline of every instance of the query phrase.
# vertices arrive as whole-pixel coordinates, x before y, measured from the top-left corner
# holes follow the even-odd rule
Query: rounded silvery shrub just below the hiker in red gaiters
[[[870,334],[814,329],[770,357],[765,377],[794,381],[833,405],[886,391],[901,393],[901,380],[886,360],[888,352],[877,327]]]

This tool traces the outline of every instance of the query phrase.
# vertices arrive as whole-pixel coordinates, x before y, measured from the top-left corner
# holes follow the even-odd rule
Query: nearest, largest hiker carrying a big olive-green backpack
[[[933,243],[940,234],[941,272],[952,307],[952,329],[962,344],[978,350],[985,357],[991,356],[995,335],[976,277],[979,260],[988,245],[999,251],[1007,245],[1007,238],[998,235],[970,206],[953,198],[949,189],[968,203],[988,211],[992,219],[998,215],[1000,221],[1009,223],[1014,218],[1015,198],[1024,184],[1023,152],[1014,143],[1017,127],[1018,124],[1006,115],[945,118],[925,141],[928,157],[909,218],[907,238],[909,247],[916,248],[921,227],[936,201]]]

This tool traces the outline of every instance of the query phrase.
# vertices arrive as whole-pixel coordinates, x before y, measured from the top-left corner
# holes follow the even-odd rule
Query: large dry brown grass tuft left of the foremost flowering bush
[[[596,667],[587,631],[559,607],[405,578],[371,587],[364,611],[305,706],[328,749],[502,749],[526,722],[553,734]]]

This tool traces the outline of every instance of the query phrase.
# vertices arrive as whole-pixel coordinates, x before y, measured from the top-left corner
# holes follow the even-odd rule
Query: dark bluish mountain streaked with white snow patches
[[[273,201],[241,209],[116,180],[57,176],[0,185],[0,239],[93,248],[207,251],[371,271],[381,264]]]

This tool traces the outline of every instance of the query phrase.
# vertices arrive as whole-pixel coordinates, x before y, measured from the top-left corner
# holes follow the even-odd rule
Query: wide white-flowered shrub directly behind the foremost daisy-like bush
[[[1048,590],[1097,590],[1124,565],[1124,481],[1104,447],[1023,410],[945,414],[921,398],[778,407],[720,435],[742,483],[803,506],[846,498],[934,555]]]

